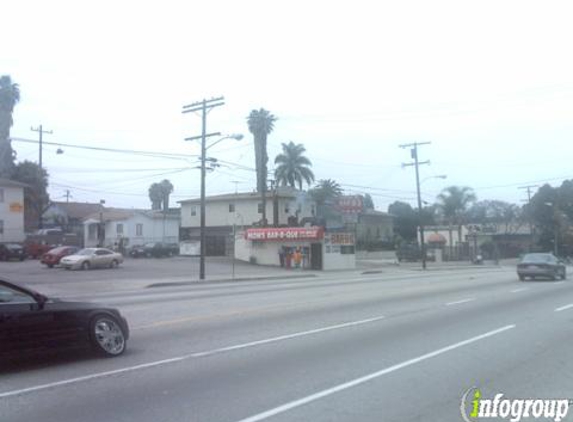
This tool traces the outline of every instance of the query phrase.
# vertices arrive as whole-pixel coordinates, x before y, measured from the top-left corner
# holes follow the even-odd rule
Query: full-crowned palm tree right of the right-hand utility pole
[[[462,243],[462,224],[465,220],[465,213],[476,199],[473,190],[467,186],[449,186],[438,195],[438,207],[450,226],[450,245],[453,244],[452,225],[458,227],[458,243]]]

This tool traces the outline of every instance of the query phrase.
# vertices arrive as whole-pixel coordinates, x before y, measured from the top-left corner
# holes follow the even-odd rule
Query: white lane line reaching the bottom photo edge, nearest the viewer
[[[424,360],[439,356],[441,354],[444,354],[446,352],[450,352],[452,350],[455,350],[455,349],[463,347],[463,346],[467,346],[468,344],[475,343],[479,340],[483,340],[485,338],[495,336],[495,335],[500,334],[504,331],[511,330],[512,328],[515,328],[515,325],[506,325],[505,327],[498,328],[497,330],[488,331],[487,333],[481,334],[479,336],[475,336],[475,337],[472,337],[470,339],[460,341],[459,343],[455,343],[455,344],[452,344],[450,346],[446,346],[446,347],[443,347],[441,349],[435,350],[433,352],[426,353],[425,355],[418,356],[417,358],[413,358],[413,359],[398,363],[396,365],[382,369],[378,372],[374,372],[372,374],[369,374],[369,375],[366,375],[366,376],[363,376],[360,378],[356,378],[352,381],[348,381],[348,382],[345,382],[343,384],[339,384],[335,387],[319,391],[318,393],[314,393],[314,394],[311,394],[309,396],[303,397],[301,399],[291,401],[289,403],[283,404],[282,406],[278,406],[278,407],[275,407],[273,409],[269,409],[269,410],[264,411],[262,413],[259,413],[257,415],[253,415],[253,416],[250,416],[248,418],[241,419],[237,422],[258,422],[258,421],[262,421],[264,419],[268,419],[272,416],[287,412],[287,411],[292,410],[294,408],[297,408],[297,407],[303,406],[305,404],[311,403],[313,401],[322,399],[324,397],[330,396],[330,395],[338,393],[340,391],[347,390],[347,389],[352,388],[352,387],[356,387],[357,385],[360,385],[360,384],[364,384],[365,382],[371,381],[375,378],[379,378],[379,377],[386,375],[386,374],[389,374],[391,372],[395,372],[395,371],[398,371],[400,369],[406,368],[408,366],[415,365],[415,364],[420,363]]]

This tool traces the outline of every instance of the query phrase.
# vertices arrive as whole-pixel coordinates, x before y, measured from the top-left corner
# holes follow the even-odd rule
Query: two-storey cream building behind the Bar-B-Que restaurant
[[[201,200],[189,199],[181,204],[181,240],[199,241]],[[281,187],[276,194],[267,193],[266,216],[269,226],[296,226],[315,215],[316,205],[306,192]],[[261,225],[260,192],[209,196],[205,198],[205,246],[207,255],[231,255],[233,232]]]

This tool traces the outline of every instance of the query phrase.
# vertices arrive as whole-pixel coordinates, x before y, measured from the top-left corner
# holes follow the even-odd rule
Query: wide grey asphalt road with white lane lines
[[[1,421],[442,422],[474,386],[573,398],[573,280],[344,273],[90,297],[129,319],[126,354],[4,369]]]

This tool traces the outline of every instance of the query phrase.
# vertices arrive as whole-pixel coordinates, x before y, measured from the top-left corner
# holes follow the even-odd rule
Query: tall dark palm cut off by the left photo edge
[[[20,88],[8,75],[0,77],[0,177],[10,178],[14,171],[15,153],[10,141],[12,113],[20,101]]]

